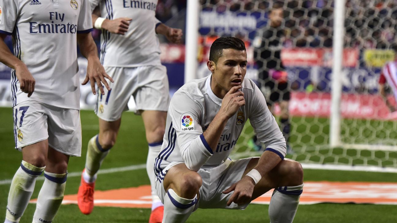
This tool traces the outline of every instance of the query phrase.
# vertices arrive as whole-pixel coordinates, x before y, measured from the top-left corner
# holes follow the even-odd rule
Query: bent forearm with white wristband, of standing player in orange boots
[[[100,17],[99,8],[96,7],[92,14],[93,27],[96,29],[106,29],[110,33],[124,35],[128,31],[129,21],[131,18],[122,17],[117,19],[106,19]],[[98,19],[99,18],[99,19]]]

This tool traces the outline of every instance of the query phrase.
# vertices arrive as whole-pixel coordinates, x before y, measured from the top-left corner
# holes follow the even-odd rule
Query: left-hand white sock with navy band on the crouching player
[[[179,197],[175,191],[168,189],[164,196],[164,217],[162,223],[183,223],[195,210],[197,195],[193,199]]]

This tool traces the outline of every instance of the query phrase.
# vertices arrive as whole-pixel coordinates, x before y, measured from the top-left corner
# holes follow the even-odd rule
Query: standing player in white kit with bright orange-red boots
[[[157,0],[90,0],[90,3],[92,10],[99,8],[99,15],[93,13],[93,22],[102,29],[100,60],[115,82],[110,84],[112,90],[98,97],[95,113],[99,117],[99,134],[88,144],[78,193],[79,208],[84,214],[93,211],[96,173],[116,142],[121,113],[128,110],[127,102],[132,95],[137,114],[142,115],[149,145],[146,169],[153,198],[149,222],[161,222],[163,205],[154,188],[153,166],[162,145],[170,97],[156,33],[165,35],[171,42],[179,42],[182,31],[156,19]]]

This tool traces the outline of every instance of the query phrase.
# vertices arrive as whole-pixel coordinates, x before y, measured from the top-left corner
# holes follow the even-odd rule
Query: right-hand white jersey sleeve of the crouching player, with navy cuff
[[[266,150],[270,150],[284,159],[287,154],[287,145],[283,133],[281,133],[276,119],[270,113],[262,92],[253,82],[252,85],[254,92],[249,105],[250,123],[257,134],[258,140],[266,145]]]

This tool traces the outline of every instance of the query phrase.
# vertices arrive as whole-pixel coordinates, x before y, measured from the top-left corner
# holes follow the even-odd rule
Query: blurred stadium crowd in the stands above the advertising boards
[[[267,13],[269,7],[269,2],[263,0],[200,0],[200,4],[203,10],[216,10],[218,13],[227,10]],[[156,17],[166,24],[172,20],[184,23],[186,6],[187,1],[184,0],[159,0]],[[333,1],[289,0],[285,2],[285,9],[285,47],[332,46]],[[345,9],[345,47],[385,49],[397,44],[397,27],[392,22],[397,19],[396,1],[347,0]],[[179,28],[185,37],[185,25],[179,25]],[[100,31],[95,30],[92,34],[98,44]],[[239,35],[251,41],[247,35]],[[160,40],[166,42],[165,38]],[[182,43],[184,41],[183,38]],[[6,43],[11,46],[11,38],[7,38]]]

